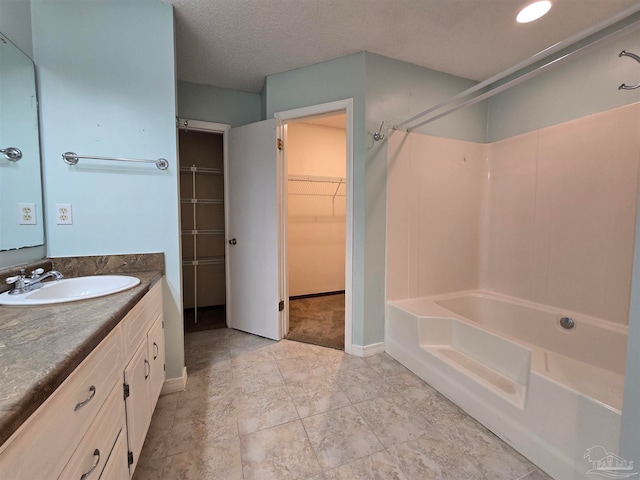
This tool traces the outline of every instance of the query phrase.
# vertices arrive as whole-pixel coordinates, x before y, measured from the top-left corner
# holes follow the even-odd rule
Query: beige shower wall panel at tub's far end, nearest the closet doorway
[[[477,288],[484,145],[394,132],[389,148],[388,298]]]

